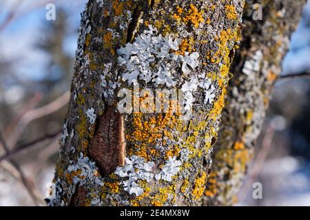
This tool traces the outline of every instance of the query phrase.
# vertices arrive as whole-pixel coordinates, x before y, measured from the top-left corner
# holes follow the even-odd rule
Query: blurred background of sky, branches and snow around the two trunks
[[[43,205],[86,2],[0,1],[0,139],[6,142],[0,148],[0,206]],[[56,5],[55,21],[45,19],[48,3]],[[309,71],[310,3],[291,39],[283,74]],[[278,80],[257,145],[238,206],[310,206],[310,78]],[[252,199],[256,181],[263,199]]]

